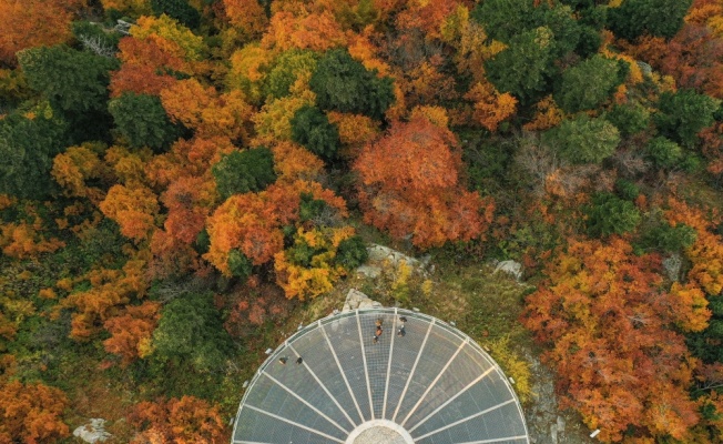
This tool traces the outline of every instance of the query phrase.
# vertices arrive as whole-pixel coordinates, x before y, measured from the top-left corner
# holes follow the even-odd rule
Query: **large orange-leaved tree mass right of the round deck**
[[[699,421],[689,395],[695,361],[678,329],[700,331],[705,301],[662,287],[659,255],[635,255],[618,238],[572,241],[527,299],[522,322],[549,346],[561,404],[577,408],[599,438],[685,441]]]

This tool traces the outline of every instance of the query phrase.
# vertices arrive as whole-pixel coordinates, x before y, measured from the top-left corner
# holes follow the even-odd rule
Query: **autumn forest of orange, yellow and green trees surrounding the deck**
[[[0,18],[0,443],[227,443],[348,287],[457,316],[525,407],[538,360],[600,442],[723,442],[722,0]],[[435,270],[359,278],[371,243]]]

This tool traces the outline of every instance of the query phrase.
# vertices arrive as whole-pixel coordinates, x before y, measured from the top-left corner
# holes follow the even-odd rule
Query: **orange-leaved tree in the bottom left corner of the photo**
[[[61,415],[65,394],[42,383],[10,381],[0,385],[0,442],[42,444],[68,436]]]

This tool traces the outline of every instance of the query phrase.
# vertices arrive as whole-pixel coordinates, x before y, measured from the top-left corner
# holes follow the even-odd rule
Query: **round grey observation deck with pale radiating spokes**
[[[369,309],[319,320],[279,345],[246,390],[232,443],[522,444],[529,437],[515,391],[475,341],[432,316]]]

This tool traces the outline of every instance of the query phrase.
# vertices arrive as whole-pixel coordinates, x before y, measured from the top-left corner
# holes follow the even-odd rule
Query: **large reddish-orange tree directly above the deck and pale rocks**
[[[364,147],[354,170],[367,223],[428,248],[482,235],[495,203],[459,183],[455,135],[418,117]]]

